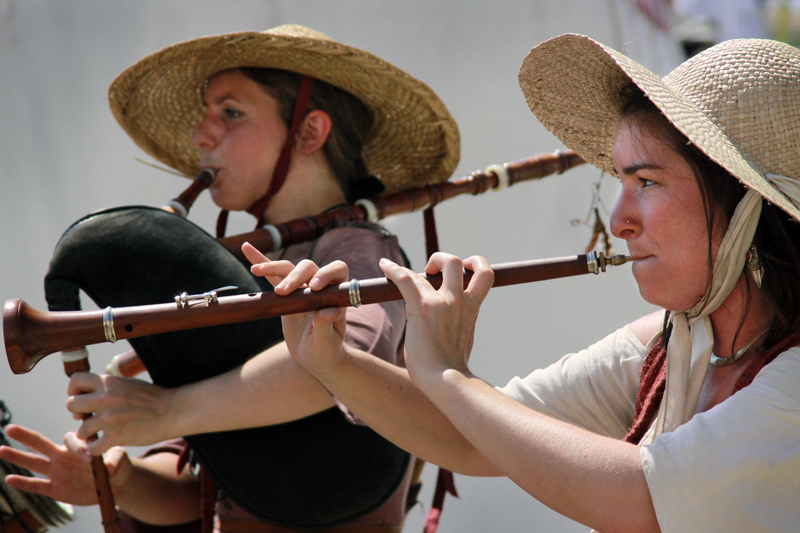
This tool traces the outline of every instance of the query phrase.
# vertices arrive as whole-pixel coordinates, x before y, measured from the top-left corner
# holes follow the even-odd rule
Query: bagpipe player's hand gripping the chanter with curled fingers
[[[67,387],[67,409],[76,420],[86,418],[78,438],[88,441],[92,455],[112,446],[146,446],[178,437],[177,421],[169,418],[173,390],[146,381],[117,376],[77,372]]]

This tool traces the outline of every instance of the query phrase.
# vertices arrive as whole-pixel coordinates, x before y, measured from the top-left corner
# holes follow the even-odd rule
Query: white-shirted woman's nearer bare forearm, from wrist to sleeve
[[[537,413],[456,370],[420,387],[536,499],[600,531],[658,531],[639,449]]]

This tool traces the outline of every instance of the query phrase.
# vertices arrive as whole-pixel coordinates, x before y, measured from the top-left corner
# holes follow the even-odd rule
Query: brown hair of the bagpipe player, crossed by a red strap
[[[278,100],[281,116],[286,127],[290,127],[303,76],[270,68],[244,67],[240,70]],[[361,153],[374,124],[369,108],[349,92],[315,79],[308,111],[315,109],[325,111],[331,117],[331,132],[323,150],[347,201],[382,193],[383,184],[370,176]]]

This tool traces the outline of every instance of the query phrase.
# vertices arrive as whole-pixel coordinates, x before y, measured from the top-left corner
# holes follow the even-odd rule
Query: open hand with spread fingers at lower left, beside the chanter
[[[9,485],[72,505],[97,504],[91,456],[86,450],[86,443],[78,439],[75,433],[64,435],[64,445],[56,444],[37,431],[14,424],[8,425],[6,434],[32,451],[0,446],[0,459],[45,477],[11,474],[6,476]],[[123,448],[114,447],[105,454],[103,460],[116,496],[131,477],[130,458]]]

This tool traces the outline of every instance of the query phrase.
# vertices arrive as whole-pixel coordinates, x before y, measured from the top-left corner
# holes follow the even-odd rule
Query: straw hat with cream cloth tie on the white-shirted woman
[[[588,37],[562,35],[531,50],[519,71],[542,124],[612,175],[619,92],[631,81],[712,160],[800,220],[800,209],[765,177],[800,179],[800,50],[725,41],[659,78]]]

